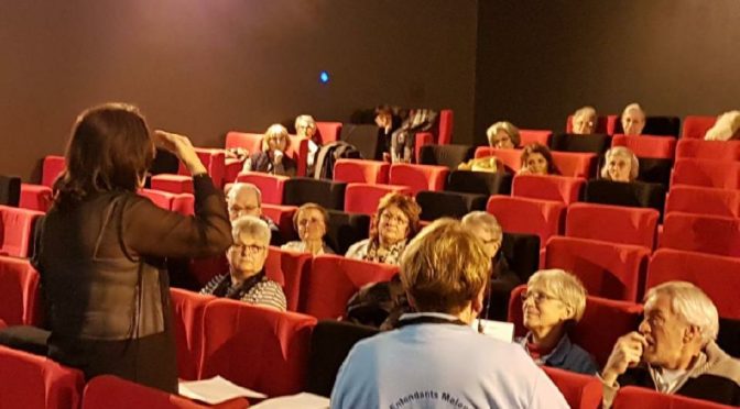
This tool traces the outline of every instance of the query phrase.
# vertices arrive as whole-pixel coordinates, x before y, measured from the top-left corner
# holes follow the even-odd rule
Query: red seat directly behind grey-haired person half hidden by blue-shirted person
[[[509,233],[529,233],[540,236],[544,248],[549,236],[558,234],[565,215],[559,201],[491,196],[486,211],[493,214]]]

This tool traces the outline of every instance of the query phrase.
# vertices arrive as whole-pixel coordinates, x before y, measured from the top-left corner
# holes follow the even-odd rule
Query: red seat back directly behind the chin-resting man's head
[[[719,316],[740,320],[740,259],[661,248],[650,261],[645,288],[671,280],[694,283],[711,298]]]

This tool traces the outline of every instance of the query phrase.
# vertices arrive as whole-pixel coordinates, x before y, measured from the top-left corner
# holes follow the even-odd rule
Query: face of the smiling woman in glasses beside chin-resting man
[[[527,330],[547,332],[563,325],[573,314],[570,308],[542,285],[529,286],[522,292],[522,311]]]

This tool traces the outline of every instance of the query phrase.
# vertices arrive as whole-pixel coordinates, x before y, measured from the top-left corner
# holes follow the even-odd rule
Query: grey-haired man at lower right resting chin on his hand
[[[739,406],[740,361],[717,346],[718,331],[717,308],[695,285],[651,288],[638,331],[617,340],[601,372],[603,407],[630,385]]]

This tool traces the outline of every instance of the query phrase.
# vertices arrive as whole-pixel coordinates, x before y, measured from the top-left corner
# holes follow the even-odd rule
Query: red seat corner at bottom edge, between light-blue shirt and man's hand
[[[597,409],[601,407],[601,382],[590,375],[543,366],[561,390],[572,409]]]

